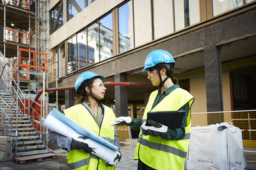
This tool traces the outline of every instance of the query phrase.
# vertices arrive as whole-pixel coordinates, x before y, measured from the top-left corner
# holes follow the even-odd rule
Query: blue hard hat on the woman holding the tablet
[[[144,68],[141,71],[146,72],[146,69],[148,69],[150,67],[154,67],[154,66],[156,66],[156,64],[159,64],[161,62],[175,64],[175,61],[174,61],[172,55],[170,53],[166,52],[166,50],[154,50],[154,51],[148,53],[148,56],[145,59]]]

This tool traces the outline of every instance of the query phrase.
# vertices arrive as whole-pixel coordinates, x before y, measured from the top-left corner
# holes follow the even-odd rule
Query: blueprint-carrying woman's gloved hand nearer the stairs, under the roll
[[[78,138],[72,138],[72,143],[70,145],[70,150],[84,150],[86,153],[92,153],[94,152],[93,149],[96,149],[97,147],[88,145],[86,143],[86,140],[88,138],[86,136],[79,136]]]

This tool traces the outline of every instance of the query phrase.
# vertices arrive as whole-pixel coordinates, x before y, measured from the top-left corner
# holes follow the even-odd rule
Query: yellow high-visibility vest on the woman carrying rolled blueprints
[[[104,106],[104,117],[101,127],[97,125],[95,119],[83,104],[72,106],[64,110],[64,113],[65,116],[71,118],[84,128],[114,144],[115,127],[111,126],[110,123],[115,122],[116,117],[108,106]],[[93,154],[86,153],[84,150],[72,150],[68,152],[68,166],[70,169],[115,169],[115,166],[107,166],[104,160]]]

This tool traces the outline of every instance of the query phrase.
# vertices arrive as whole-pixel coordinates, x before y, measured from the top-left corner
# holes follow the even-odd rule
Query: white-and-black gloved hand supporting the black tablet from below
[[[141,126],[142,135],[150,135],[150,136],[161,136],[161,138],[167,138],[168,127],[166,125],[159,124],[153,120],[148,120],[148,124],[144,122]]]

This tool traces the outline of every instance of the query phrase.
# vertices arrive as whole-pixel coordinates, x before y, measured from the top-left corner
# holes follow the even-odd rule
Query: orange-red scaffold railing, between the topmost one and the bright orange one
[[[5,27],[5,41],[30,45],[30,34],[29,32],[18,31]]]

